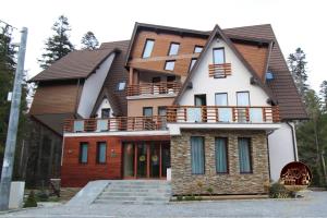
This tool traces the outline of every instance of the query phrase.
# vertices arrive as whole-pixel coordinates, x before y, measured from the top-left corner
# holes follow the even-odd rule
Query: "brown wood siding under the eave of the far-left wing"
[[[77,82],[39,84],[29,113],[49,114],[74,112],[76,108],[76,95]]]

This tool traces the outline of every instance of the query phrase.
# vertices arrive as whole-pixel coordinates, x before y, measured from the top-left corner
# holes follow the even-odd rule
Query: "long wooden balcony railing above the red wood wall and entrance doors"
[[[166,117],[117,117],[65,120],[65,133],[166,130]]]

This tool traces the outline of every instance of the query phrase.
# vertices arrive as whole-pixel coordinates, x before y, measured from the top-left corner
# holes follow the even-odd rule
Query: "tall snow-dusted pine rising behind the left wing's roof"
[[[69,32],[71,31],[68,19],[64,15],[59,16],[58,21],[53,24],[52,31],[55,35],[49,37],[46,41],[46,52],[41,55],[38,60],[40,68],[46,69],[55,61],[61,59],[74,49],[74,46],[69,40]]]

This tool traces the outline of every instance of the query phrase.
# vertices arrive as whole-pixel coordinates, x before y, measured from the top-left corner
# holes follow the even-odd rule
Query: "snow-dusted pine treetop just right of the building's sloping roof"
[[[289,69],[292,73],[294,83],[299,94],[304,99],[305,93],[308,89],[307,75],[306,75],[306,60],[305,53],[301,48],[296,48],[294,53],[290,53],[288,58]]]

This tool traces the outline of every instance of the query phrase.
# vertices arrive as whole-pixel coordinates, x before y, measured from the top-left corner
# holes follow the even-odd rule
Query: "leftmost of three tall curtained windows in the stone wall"
[[[204,174],[205,154],[204,137],[191,136],[191,165],[193,174]]]

